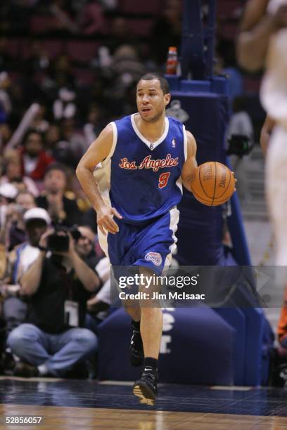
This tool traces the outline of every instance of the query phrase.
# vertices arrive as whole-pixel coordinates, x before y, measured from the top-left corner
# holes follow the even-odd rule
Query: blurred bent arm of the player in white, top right
[[[287,25],[287,6],[274,15],[267,13],[269,0],[249,0],[241,22],[237,59],[241,67],[255,72],[264,67],[269,37]]]

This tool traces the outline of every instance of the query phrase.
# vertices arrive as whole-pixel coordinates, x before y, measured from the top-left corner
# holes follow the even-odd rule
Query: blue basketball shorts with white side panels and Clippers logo
[[[140,226],[115,219],[120,231],[115,235],[108,233],[106,243],[100,233],[100,245],[112,266],[146,266],[160,275],[165,266],[170,266],[172,253],[177,248],[178,221],[177,207]]]

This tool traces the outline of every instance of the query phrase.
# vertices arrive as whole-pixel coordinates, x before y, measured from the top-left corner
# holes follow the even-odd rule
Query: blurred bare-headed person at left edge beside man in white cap
[[[0,230],[0,242],[6,245],[8,250],[25,241],[23,215],[35,206],[34,195],[29,191],[20,191],[15,197],[15,203],[8,204],[6,219]]]

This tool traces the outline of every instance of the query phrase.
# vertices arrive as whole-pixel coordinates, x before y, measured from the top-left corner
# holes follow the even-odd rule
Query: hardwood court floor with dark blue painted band
[[[42,417],[7,426],[6,417]],[[0,429],[287,430],[282,389],[162,384],[155,407],[139,405],[131,384],[0,379]]]

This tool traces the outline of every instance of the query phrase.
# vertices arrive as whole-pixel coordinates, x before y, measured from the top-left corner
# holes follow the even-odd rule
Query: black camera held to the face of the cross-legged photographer
[[[72,238],[77,242],[81,233],[77,229],[77,226],[66,227],[57,224],[55,226],[55,233],[52,233],[47,237],[47,247],[51,252],[68,252],[70,237],[68,233],[72,235]]]

